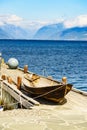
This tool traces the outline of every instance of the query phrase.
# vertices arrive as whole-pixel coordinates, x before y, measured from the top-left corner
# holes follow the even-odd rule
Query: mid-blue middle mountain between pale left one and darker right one
[[[34,35],[34,39],[50,39],[53,40],[55,39],[55,34],[57,34],[57,39],[58,39],[58,34],[60,34],[61,31],[65,29],[63,23],[58,23],[58,24],[51,24],[47,26],[43,26],[40,28],[36,34]]]

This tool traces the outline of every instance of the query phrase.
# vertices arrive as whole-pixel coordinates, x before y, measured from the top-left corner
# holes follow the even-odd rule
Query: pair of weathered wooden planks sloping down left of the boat
[[[30,108],[33,105],[39,105],[37,101],[29,98],[19,91],[14,84],[9,84],[7,81],[3,81],[3,89],[14,97],[19,103],[22,103],[25,108]]]

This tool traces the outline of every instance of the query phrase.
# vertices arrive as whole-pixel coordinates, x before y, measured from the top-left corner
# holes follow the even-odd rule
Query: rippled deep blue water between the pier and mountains
[[[7,62],[15,57],[29,71],[51,75],[61,81],[66,76],[75,88],[87,91],[86,41],[0,40],[0,52]]]

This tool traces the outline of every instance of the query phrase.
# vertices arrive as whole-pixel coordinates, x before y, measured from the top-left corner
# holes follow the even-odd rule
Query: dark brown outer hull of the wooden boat
[[[29,87],[25,86],[25,89],[28,93],[34,95],[34,99],[37,98],[45,98],[47,100],[51,100],[54,102],[61,102],[65,95],[71,90],[71,84],[63,84],[56,86],[48,86],[48,87]]]

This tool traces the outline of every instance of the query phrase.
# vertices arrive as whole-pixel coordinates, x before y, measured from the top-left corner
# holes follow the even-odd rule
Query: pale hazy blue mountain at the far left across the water
[[[0,27],[0,39],[29,39],[29,30],[12,24],[4,24]]]

